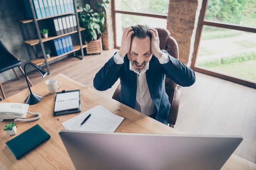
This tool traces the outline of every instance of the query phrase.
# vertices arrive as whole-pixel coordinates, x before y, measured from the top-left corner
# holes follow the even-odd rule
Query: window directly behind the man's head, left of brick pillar
[[[148,24],[166,28],[168,4],[169,0],[115,0],[115,48],[120,47],[123,30],[127,26]]]

